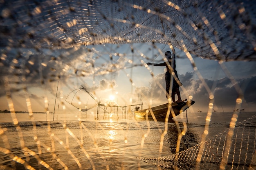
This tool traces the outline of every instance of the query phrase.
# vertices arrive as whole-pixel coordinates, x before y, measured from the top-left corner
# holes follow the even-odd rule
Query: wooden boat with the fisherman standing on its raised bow
[[[193,105],[194,103],[195,103],[195,101],[193,101],[193,100],[189,100],[189,101],[182,102],[182,103],[172,103],[171,107],[173,109],[174,114],[172,114],[172,111],[171,111],[169,119],[172,119],[175,116],[179,115],[180,113],[186,111],[186,109],[189,109],[189,107],[191,105]],[[148,117],[153,118],[153,116],[151,115],[151,113],[153,112],[155,118],[165,119],[167,111],[168,111],[168,105],[169,105],[169,103],[166,103],[164,105],[159,105],[159,106],[151,107],[148,109],[138,110],[138,111],[135,111],[134,113],[135,113],[135,116],[137,116],[137,117],[145,117],[146,112],[148,112]]]

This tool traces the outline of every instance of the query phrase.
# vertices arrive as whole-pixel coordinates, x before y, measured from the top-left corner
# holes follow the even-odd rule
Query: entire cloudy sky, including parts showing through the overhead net
[[[34,3],[31,2],[31,4]],[[219,10],[216,10],[218,8],[214,8],[216,4],[212,4],[212,2],[206,2],[205,4],[209,4],[213,8],[209,10],[204,5],[196,5],[196,7],[192,5],[191,8],[186,8],[187,11],[182,12],[183,9],[182,11],[176,11],[173,10],[172,6],[166,5],[165,2],[160,2],[159,5],[162,5],[160,6],[162,11],[168,11],[169,9],[172,11],[163,13],[166,18],[158,13],[150,13],[152,4],[141,4],[145,5],[150,11],[139,10],[137,6],[125,6],[128,7],[126,8],[128,10],[121,11],[115,11],[112,8],[104,10],[105,6],[102,6],[106,15],[102,15],[104,11],[98,11],[96,8],[94,11],[96,17],[94,14],[93,17],[90,17],[87,10],[84,10],[91,10],[91,5],[88,6],[89,8],[78,5],[76,7],[77,15],[74,15],[74,11],[67,8],[67,11],[59,11],[58,17],[60,20],[54,21],[52,21],[52,15],[49,15],[48,10],[53,7],[54,10],[58,11],[58,9],[61,9],[58,8],[59,5],[62,5],[61,3],[56,4],[57,8],[54,8],[55,5],[52,6],[52,4],[49,5],[49,8],[48,4],[42,4],[42,7],[45,7],[44,5],[47,7],[43,8],[45,9],[43,11],[35,11],[33,5],[23,8],[19,5],[11,7],[11,4],[4,4],[4,9],[9,8],[13,11],[4,10],[2,13],[1,25],[4,29],[1,35],[3,38],[2,47],[0,47],[0,110],[9,110],[7,96],[9,96],[8,89],[10,89],[11,100],[9,100],[9,104],[13,102],[16,111],[27,111],[27,105],[31,102],[33,111],[45,111],[46,109],[54,111],[54,109],[57,109],[59,112],[63,112],[64,108],[67,112],[72,113],[76,111],[76,108],[67,103],[67,100],[77,100],[74,102],[88,105],[94,105],[95,103],[94,100],[91,101],[92,98],[86,93],[75,90],[81,85],[86,87],[101,102],[108,102],[110,96],[112,96],[112,102],[119,105],[133,105],[139,102],[138,98],[141,98],[144,108],[168,102],[164,91],[166,68],[146,66],[148,62],[162,63],[164,52],[170,50],[168,45],[137,43],[76,46],[74,44],[74,48],[61,50],[38,48],[43,44],[47,48],[52,48],[49,47],[49,44],[58,46],[60,40],[67,42],[67,44],[61,45],[63,48],[64,46],[70,47],[73,45],[73,41],[71,41],[73,37],[76,37],[77,41],[81,43],[88,41],[90,43],[102,43],[112,38],[119,42],[121,37],[124,39],[121,38],[120,42],[125,42],[126,38],[130,42],[129,36],[132,30],[131,35],[136,35],[137,38],[131,39],[131,41],[151,41],[159,37],[157,41],[164,42],[170,36],[171,40],[168,40],[173,41],[174,45],[179,44],[178,41],[182,41],[181,44],[186,44],[189,51],[197,51],[201,55],[207,54],[208,57],[214,58],[216,56],[209,51],[215,48],[211,46],[213,45],[211,39],[207,38],[207,36],[214,35],[213,39],[216,40],[214,40],[214,44],[220,49],[221,54],[228,55],[228,59],[235,59],[236,54],[242,54],[237,56],[238,59],[250,59],[250,56],[247,55],[255,53],[254,41],[251,41],[254,39],[254,32],[250,29],[255,23],[254,14],[252,13],[253,3],[245,3],[245,9],[239,10],[240,14],[238,16],[241,20],[235,20],[234,16],[237,15],[230,12],[230,10],[237,11],[236,5],[229,9],[222,5],[223,13],[226,15],[224,17],[224,15],[220,15]],[[65,7],[65,3],[63,5]],[[120,4],[113,3],[112,5],[115,9]],[[183,4],[181,5],[183,7]],[[80,8],[81,11],[79,11]],[[99,8],[101,8],[100,5]],[[93,9],[94,7],[92,7]],[[26,11],[29,10],[33,13],[28,14]],[[155,11],[155,9],[152,10]],[[245,12],[246,10],[247,12]],[[12,12],[15,12],[14,18],[11,15]],[[31,17],[31,14],[35,17]],[[81,17],[77,17],[80,14]],[[204,20],[202,14],[205,15],[204,17],[207,20]],[[167,19],[169,15],[173,19]],[[184,16],[189,17],[183,20]],[[162,17],[165,18],[165,24],[160,26],[160,22],[163,21]],[[111,22],[106,22],[105,25],[106,18],[111,19]],[[116,20],[117,18],[118,20]],[[244,18],[249,19],[250,22],[243,20]],[[114,27],[112,19],[114,19],[113,23],[117,24]],[[84,22],[85,20],[88,20],[88,22]],[[20,26],[18,28],[16,28],[17,21],[20,24],[18,24]],[[232,29],[230,26],[226,26],[226,21],[230,22]],[[103,24],[99,24],[101,22]],[[132,23],[132,27],[129,23]],[[134,23],[138,24],[135,24],[133,28]],[[59,28],[59,24],[61,24],[61,28]],[[88,28],[93,29],[88,30]],[[63,32],[63,30],[65,31]],[[162,36],[162,33],[166,37]],[[215,35],[216,33],[218,33],[218,36]],[[119,37],[121,34],[125,36]],[[207,36],[205,37],[205,35]],[[105,36],[111,38],[108,40],[108,38],[105,39]],[[186,36],[193,37],[193,41],[187,39]],[[67,37],[67,39],[63,37]],[[95,39],[91,41],[90,37]],[[21,41],[23,38],[33,39],[33,41],[25,41],[23,45],[24,42]],[[36,44],[34,43],[36,39],[43,41],[38,41],[38,44]],[[22,47],[20,43],[27,48],[15,48],[17,46]],[[204,47],[201,46],[201,43],[204,44]],[[205,43],[211,45],[208,46]],[[221,45],[221,48],[219,45]],[[29,47],[38,49],[29,49]],[[202,49],[198,50],[201,47]],[[245,49],[247,50],[245,51]],[[182,99],[191,98],[195,101],[189,111],[196,112],[200,110],[206,112],[208,110],[209,92],[207,92],[207,88],[211,89],[211,92],[215,95],[213,109],[216,111],[233,111],[236,107],[239,91],[243,94],[241,96],[243,105],[237,109],[255,111],[255,61],[228,61],[220,64],[215,60],[193,56],[196,66],[193,67],[185,53],[177,48],[176,56],[176,69],[183,84],[180,87]],[[73,90],[75,91],[73,92]]]

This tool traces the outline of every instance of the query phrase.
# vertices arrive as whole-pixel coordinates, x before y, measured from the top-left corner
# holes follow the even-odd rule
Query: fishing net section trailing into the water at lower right
[[[256,117],[253,116],[239,122],[234,130],[227,129],[180,153],[141,160],[173,169],[253,169],[256,166],[255,125]],[[249,141],[254,141],[254,145],[250,145]]]

